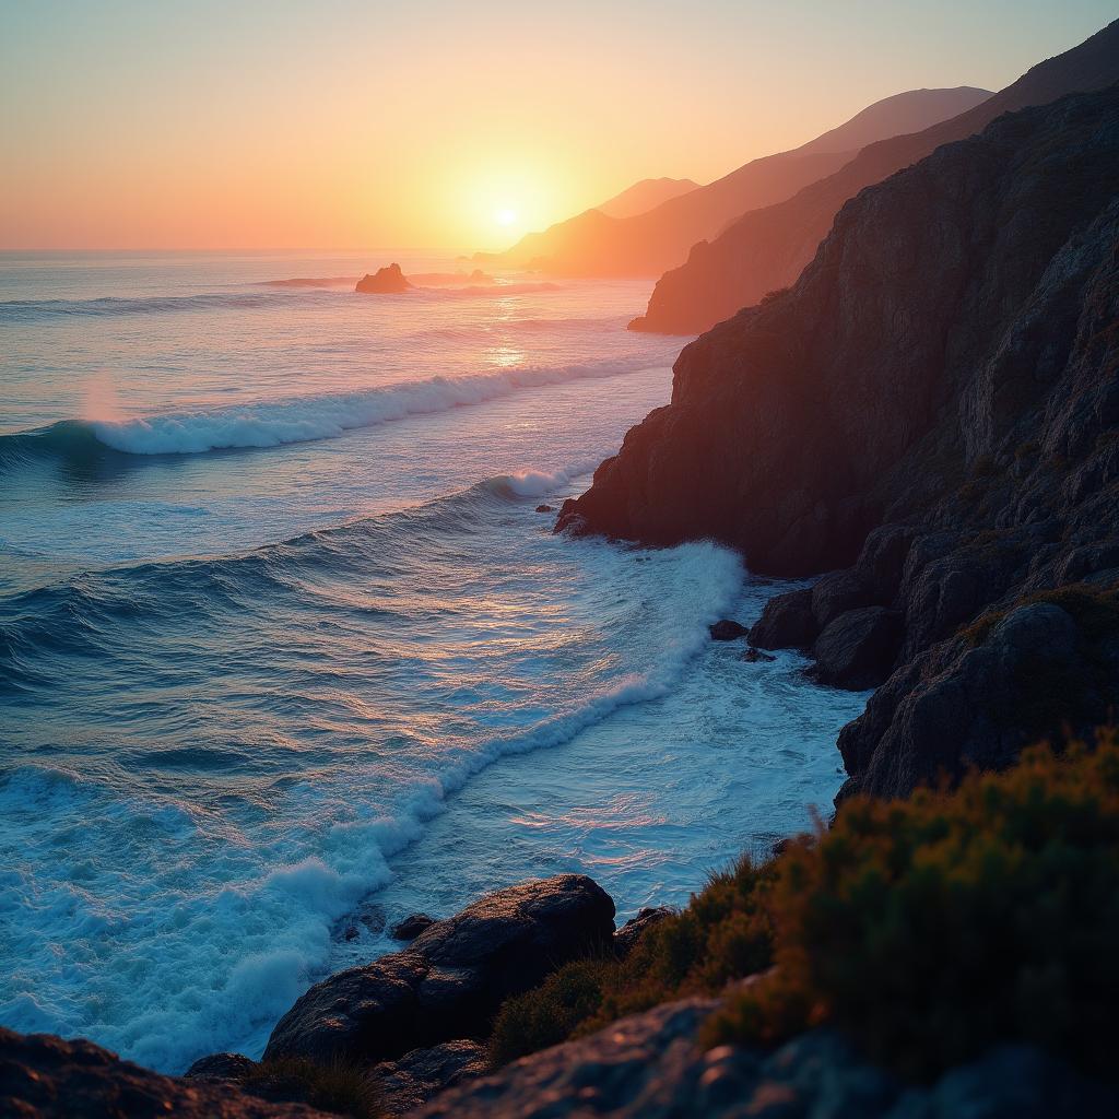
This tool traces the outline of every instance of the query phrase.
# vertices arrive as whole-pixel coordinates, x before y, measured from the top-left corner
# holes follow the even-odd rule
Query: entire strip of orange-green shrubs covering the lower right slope
[[[732,987],[707,1046],[825,1023],[924,1078],[1002,1042],[1115,1074],[1119,742],[1026,751],[909,800],[855,797],[830,828],[743,859],[622,961],[579,960],[501,1008],[506,1062],[669,998]]]

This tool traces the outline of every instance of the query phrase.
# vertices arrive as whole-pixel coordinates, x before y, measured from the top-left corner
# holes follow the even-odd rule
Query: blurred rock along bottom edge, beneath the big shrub
[[[1087,1119],[1115,1115],[1119,1096],[1037,1050],[1006,1046],[928,1087],[906,1088],[819,1031],[775,1053],[695,1034],[715,1006],[670,1003],[582,1041],[524,1057],[436,1097],[422,1119]]]

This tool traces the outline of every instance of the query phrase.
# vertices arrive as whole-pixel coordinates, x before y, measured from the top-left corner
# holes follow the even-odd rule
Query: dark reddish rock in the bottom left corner
[[[242,1059],[244,1060],[244,1059]],[[141,1069],[92,1042],[0,1027],[0,1115],[13,1119],[326,1119],[228,1083],[184,1081]]]

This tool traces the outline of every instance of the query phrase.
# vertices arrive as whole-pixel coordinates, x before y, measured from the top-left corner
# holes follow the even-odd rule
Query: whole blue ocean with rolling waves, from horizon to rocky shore
[[[865,697],[707,636],[783,585],[537,511],[669,399],[649,284],[389,260],[470,267],[0,255],[0,1024],[258,1056],[407,913],[827,812]]]

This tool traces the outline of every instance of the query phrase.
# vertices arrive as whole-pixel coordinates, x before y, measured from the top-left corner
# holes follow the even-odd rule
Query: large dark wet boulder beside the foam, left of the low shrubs
[[[490,894],[435,922],[404,951],[313,986],[280,1019],[264,1060],[379,1062],[480,1040],[508,996],[609,946],[613,918],[610,896],[579,874]]]

